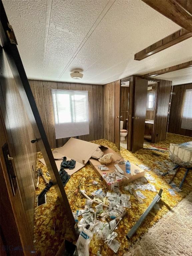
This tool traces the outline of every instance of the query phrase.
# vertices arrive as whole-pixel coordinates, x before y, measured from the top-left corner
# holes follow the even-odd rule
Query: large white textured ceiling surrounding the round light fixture
[[[3,4],[29,79],[76,82],[70,72],[81,68],[81,83],[105,84],[192,59],[189,38],[134,60],[135,53],[180,29],[141,0],[3,0]]]

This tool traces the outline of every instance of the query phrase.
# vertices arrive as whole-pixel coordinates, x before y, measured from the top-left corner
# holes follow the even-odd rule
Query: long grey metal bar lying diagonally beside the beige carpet
[[[135,223],[135,225],[132,227],[132,229],[127,233],[127,235],[126,235],[127,239],[130,239],[135,234],[135,232],[140,227],[140,225],[142,224],[144,219],[147,217],[147,215],[149,214],[151,209],[155,206],[156,203],[159,202],[159,200],[161,199],[162,192],[163,192],[163,189],[161,188],[159,190],[159,193],[153,198],[153,201],[148,206],[146,211],[141,215],[141,217],[138,219],[138,221]]]

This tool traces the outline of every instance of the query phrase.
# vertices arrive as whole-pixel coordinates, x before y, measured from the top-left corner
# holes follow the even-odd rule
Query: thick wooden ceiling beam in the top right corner
[[[192,32],[191,0],[142,0],[182,28]]]

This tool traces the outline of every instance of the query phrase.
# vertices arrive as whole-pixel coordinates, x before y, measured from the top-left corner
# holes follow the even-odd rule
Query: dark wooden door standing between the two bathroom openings
[[[143,148],[145,133],[145,117],[147,102],[147,86],[146,79],[135,77],[135,93],[134,93],[134,110],[133,110],[133,132],[132,132],[132,152]]]

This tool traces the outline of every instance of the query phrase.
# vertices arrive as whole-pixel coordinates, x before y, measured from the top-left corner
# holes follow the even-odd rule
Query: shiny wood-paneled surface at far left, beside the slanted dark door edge
[[[22,202],[20,209],[22,214],[18,217],[20,217],[20,222],[26,230],[25,240],[29,239],[33,242],[37,150],[36,145],[30,142],[34,139],[33,129],[2,49],[0,76],[1,111],[10,144],[10,154],[16,169],[19,187],[17,193],[19,193]],[[22,218],[23,215],[24,218]]]

